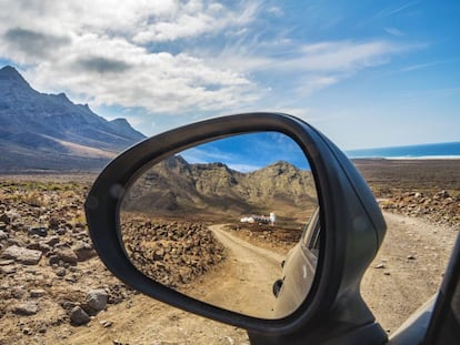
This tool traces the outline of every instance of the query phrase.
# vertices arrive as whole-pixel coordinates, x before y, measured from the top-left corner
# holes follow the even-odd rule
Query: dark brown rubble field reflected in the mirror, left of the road
[[[187,285],[224,260],[223,246],[203,223],[124,213],[121,224],[132,263],[168,287]]]

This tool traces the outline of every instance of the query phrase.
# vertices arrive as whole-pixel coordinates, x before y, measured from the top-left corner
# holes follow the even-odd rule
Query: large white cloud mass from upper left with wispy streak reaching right
[[[26,65],[36,89],[150,113],[273,108],[273,85],[261,82],[261,74],[273,80],[288,74],[292,90],[310,94],[387,63],[401,50],[386,41],[299,43],[286,32],[249,38],[261,12],[282,16],[282,9],[262,9],[259,1],[0,0],[0,6],[8,8],[0,12],[0,58]],[[193,49],[193,42],[219,34],[234,45]],[[172,43],[171,52],[159,48]]]

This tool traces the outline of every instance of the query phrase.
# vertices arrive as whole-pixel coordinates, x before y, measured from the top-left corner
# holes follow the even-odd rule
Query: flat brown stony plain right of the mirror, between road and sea
[[[460,160],[357,160],[384,211],[460,224]]]

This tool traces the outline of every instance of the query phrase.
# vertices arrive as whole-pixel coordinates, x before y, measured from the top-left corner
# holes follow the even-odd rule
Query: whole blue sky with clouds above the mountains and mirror
[[[460,141],[457,0],[0,0],[0,8],[8,9],[0,65],[147,135],[278,111],[343,150]]]

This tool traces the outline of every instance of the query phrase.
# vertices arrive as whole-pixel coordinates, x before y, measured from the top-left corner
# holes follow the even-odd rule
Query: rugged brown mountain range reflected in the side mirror
[[[141,175],[123,202],[126,211],[159,214],[267,214],[296,216],[317,205],[310,171],[279,161],[250,173],[223,163],[190,164],[170,156]]]

